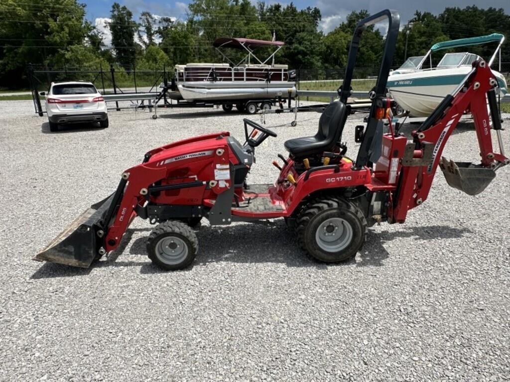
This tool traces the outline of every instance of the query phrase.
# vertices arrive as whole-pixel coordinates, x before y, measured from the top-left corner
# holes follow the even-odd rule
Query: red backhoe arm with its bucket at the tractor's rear
[[[475,62],[472,71],[466,76],[461,85],[452,95],[443,100],[436,111],[417,131],[413,131],[415,144],[413,158],[423,158],[427,145],[429,148],[432,145],[433,149],[428,151],[431,153],[431,157],[425,158],[427,165],[423,166],[424,162],[422,162],[420,163],[421,166],[404,165],[402,167],[399,186],[393,197],[395,201],[393,222],[402,223],[405,220],[407,210],[420,205],[427,199],[433,177],[441,161],[444,146],[465,112],[470,112],[473,115],[476,136],[480,146],[481,164],[472,165],[471,163],[455,163],[452,161],[444,166],[443,161],[441,161],[441,166],[448,167],[447,169],[442,168],[448,183],[470,195],[475,195],[481,192],[494,178],[496,169],[510,163],[502,150],[501,135],[498,131],[501,129],[501,123],[499,118],[495,118],[495,116],[498,116],[496,98],[493,94],[496,85],[495,76],[486,62]],[[492,126],[487,110],[488,100],[493,117]],[[493,151],[492,129],[498,133],[500,153]],[[471,179],[469,178],[470,174],[474,174]],[[449,177],[452,180],[449,180]],[[485,183],[475,184],[471,188],[467,187],[466,183],[470,181],[480,182],[480,179],[482,183]]]

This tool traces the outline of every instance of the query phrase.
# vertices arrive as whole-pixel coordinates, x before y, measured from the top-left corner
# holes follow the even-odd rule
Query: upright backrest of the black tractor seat
[[[342,138],[345,120],[347,119],[347,107],[340,101],[333,101],[325,108],[319,119],[319,131],[315,138],[323,141],[327,146],[324,151],[333,149]]]

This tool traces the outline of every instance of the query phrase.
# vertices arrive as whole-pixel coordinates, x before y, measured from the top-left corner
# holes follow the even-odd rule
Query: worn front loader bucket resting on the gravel
[[[88,268],[99,256],[99,249],[104,247],[104,233],[98,234],[98,231],[102,230],[103,217],[112,199],[113,195],[88,208],[34,260]]]

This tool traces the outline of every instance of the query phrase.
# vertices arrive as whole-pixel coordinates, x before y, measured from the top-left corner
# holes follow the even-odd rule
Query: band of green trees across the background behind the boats
[[[112,41],[106,46],[105,36],[86,19],[85,5],[78,0],[5,0],[0,4],[0,87],[25,87],[28,63],[57,70],[107,69],[112,64],[129,73],[133,68],[221,62],[221,56],[212,48],[218,37],[271,40],[274,35],[286,44],[278,53],[277,63],[293,69],[342,69],[353,29],[368,15],[366,10],[353,11],[333,31],[323,33],[320,10],[297,9],[293,3],[192,0],[184,20],[142,12],[138,21],[129,8],[114,3],[108,22]],[[447,7],[439,15],[416,11],[401,27],[396,66],[406,57],[424,54],[439,41],[495,32],[509,36],[510,15],[496,8]],[[362,75],[379,65],[384,47],[381,30],[384,26],[371,26],[364,33],[356,63]],[[469,50],[487,57],[494,47],[475,46]],[[510,61],[507,46],[502,61]]]

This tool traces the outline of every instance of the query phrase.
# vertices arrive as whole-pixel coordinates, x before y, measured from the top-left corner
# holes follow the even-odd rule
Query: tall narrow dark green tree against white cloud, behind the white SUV
[[[113,3],[108,26],[112,33],[116,61],[126,69],[133,66],[136,57],[135,33],[138,31],[133,13],[126,6]]]

